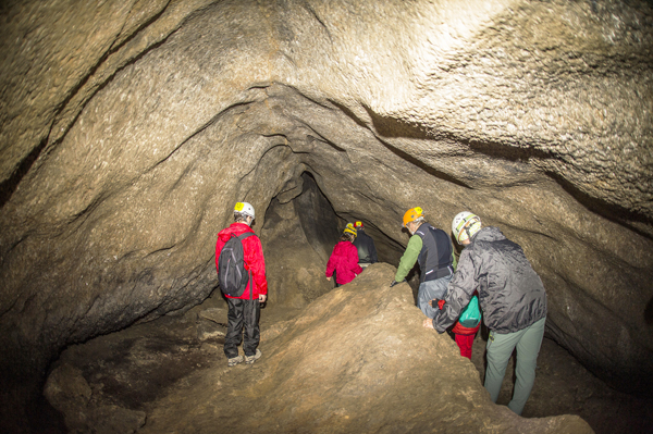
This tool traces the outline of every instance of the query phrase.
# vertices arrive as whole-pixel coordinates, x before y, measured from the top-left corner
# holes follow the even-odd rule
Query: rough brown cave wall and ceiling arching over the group
[[[649,3],[0,8],[14,386],[71,343],[200,302],[233,203],[262,231],[306,172],[389,244],[417,204],[444,228],[464,209],[498,225],[544,281],[550,335],[612,384],[653,385]]]

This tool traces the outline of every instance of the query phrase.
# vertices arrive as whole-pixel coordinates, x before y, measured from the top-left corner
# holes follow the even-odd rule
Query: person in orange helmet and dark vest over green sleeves
[[[433,308],[430,301],[444,297],[454,274],[454,246],[446,232],[433,227],[424,220],[423,211],[419,207],[406,211],[404,227],[410,232],[411,237],[390,286],[403,282],[415,266],[415,262],[419,262],[417,307],[424,315],[433,318],[436,308]]]

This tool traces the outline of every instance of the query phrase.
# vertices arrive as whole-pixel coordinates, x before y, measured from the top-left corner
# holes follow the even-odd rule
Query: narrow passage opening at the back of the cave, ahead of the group
[[[338,213],[312,173],[305,171],[300,179],[301,190],[294,198],[282,198],[283,194],[272,198],[260,230],[271,303],[298,308],[333,288],[324,271],[347,223],[361,221],[379,261],[398,264],[404,246],[379,230],[374,215]],[[410,284],[417,292],[417,282]]]

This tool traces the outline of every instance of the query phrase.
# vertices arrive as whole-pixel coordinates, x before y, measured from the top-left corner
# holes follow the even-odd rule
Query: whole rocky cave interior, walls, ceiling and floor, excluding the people
[[[0,15],[0,429],[28,430],[28,416],[52,406],[69,431],[211,432],[226,418],[224,426],[266,432],[254,417],[197,402],[201,418],[185,419],[195,410],[184,387],[209,383],[197,395],[207,401],[210,392],[246,402],[285,390],[251,402],[266,426],[288,432],[453,431],[470,396],[481,404],[469,431],[484,417],[500,431],[600,432],[632,409],[619,429],[651,427],[650,2],[33,0],[7,2]],[[214,246],[237,201],[257,212],[271,356],[230,380],[217,368]],[[463,365],[446,335],[419,326],[419,272],[387,287],[408,241],[402,215],[416,206],[447,233],[470,210],[518,243],[546,288],[549,354],[565,351],[578,375],[624,395],[592,407],[599,393],[577,386],[569,402],[582,409],[544,406],[532,420],[490,402],[476,377],[482,347]],[[324,265],[356,220],[381,263],[333,290]],[[140,350],[132,334],[155,324],[181,327],[174,350]],[[162,370],[175,387],[147,398],[156,406],[116,402],[79,364],[102,342],[135,351],[137,362],[125,360],[138,365],[157,351],[159,363],[194,355],[205,376]],[[438,372],[424,368],[434,357]],[[334,386],[303,388],[310,370]],[[255,374],[262,380],[238,395]],[[419,375],[460,399],[454,416],[426,418],[414,401],[426,392],[406,398]],[[134,393],[121,387],[123,398]],[[187,411],[167,416],[184,397]]]

